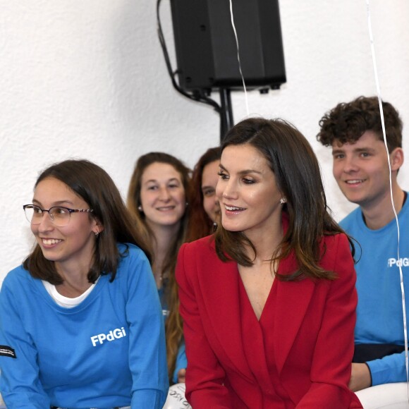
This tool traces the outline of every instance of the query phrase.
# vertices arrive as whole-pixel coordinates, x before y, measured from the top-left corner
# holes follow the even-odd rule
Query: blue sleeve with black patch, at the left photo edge
[[[20,287],[15,281],[6,277],[0,292],[1,394],[8,409],[49,408],[39,381],[37,349],[18,314]]]

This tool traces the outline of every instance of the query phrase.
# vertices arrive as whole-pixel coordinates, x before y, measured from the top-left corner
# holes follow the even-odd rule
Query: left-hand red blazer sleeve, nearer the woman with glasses
[[[204,333],[200,315],[200,286],[197,280],[195,243],[181,247],[176,265],[176,280],[181,301],[188,367],[185,396],[195,409],[232,408],[228,390],[223,385],[225,373]]]

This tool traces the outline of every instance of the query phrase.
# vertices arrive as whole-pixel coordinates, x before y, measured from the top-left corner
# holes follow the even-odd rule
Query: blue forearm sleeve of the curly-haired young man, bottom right
[[[372,386],[406,381],[405,351],[366,363],[370,367]]]

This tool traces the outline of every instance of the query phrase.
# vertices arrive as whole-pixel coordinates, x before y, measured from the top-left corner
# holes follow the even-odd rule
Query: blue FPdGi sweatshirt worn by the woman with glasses
[[[114,281],[101,276],[69,309],[23,267],[8,273],[0,293],[8,409],[162,408],[169,381],[161,305],[145,254],[128,246]]]

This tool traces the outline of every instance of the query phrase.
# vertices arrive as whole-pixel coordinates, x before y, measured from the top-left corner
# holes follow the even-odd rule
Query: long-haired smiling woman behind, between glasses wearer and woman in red
[[[190,170],[164,152],[142,155],[128,190],[128,209],[152,248],[152,270],[165,318],[169,380],[184,381],[183,327],[175,266],[188,224]]]

